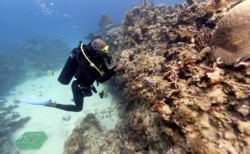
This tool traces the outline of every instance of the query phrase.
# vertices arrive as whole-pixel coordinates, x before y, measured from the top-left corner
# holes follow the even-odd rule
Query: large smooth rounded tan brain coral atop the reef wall
[[[211,38],[212,59],[233,65],[250,57],[250,0],[236,5],[218,22]]]

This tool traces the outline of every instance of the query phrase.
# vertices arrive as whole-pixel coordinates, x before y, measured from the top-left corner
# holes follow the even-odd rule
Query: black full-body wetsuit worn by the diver
[[[104,58],[98,57],[90,44],[84,46],[84,51],[88,58],[95,64],[96,67],[98,67],[99,70],[103,71],[104,74],[101,75],[94,67],[90,66],[89,62],[83,56],[80,48],[73,49],[71,51],[71,58],[79,63],[74,75],[76,80],[74,80],[71,85],[75,105],[57,104],[56,108],[74,112],[81,111],[83,108],[83,98],[92,95],[93,83],[95,81],[103,83],[115,74],[115,67],[108,69]]]

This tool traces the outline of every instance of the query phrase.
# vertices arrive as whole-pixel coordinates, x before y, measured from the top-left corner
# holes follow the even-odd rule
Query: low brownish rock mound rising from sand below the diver
[[[104,132],[96,116],[88,114],[65,142],[64,153],[121,153],[123,143],[120,134],[118,130]]]

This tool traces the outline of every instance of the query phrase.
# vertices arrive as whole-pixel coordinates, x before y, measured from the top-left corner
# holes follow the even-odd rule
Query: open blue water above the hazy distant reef
[[[156,4],[183,0],[154,0]],[[0,50],[15,50],[30,38],[61,39],[75,45],[88,33],[98,31],[102,13],[120,23],[127,10],[141,0],[1,0]]]

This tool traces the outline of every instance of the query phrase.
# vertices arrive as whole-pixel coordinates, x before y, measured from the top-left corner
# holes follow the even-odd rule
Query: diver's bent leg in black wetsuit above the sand
[[[78,87],[77,81],[73,81],[71,88],[75,105],[56,104],[55,107],[66,111],[79,112],[83,108],[83,93],[82,90]]]

